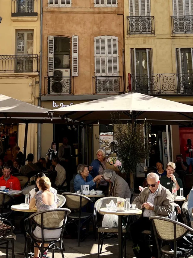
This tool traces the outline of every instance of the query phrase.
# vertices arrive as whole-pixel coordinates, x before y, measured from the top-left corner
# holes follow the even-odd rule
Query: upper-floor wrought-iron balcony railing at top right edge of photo
[[[191,16],[171,16],[172,34],[193,33],[193,15]]]

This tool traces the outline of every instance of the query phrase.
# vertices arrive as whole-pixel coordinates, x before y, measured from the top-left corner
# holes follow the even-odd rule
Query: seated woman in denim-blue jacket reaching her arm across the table
[[[95,176],[94,178],[89,174],[88,166],[84,164],[78,165],[77,175],[74,178],[74,191],[81,190],[81,185],[89,185],[92,190],[98,186],[102,175]]]

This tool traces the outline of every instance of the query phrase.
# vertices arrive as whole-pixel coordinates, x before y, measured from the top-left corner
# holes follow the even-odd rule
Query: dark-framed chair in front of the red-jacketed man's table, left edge
[[[14,196],[0,191],[0,216],[3,218],[7,218],[12,210],[11,205],[14,204]]]

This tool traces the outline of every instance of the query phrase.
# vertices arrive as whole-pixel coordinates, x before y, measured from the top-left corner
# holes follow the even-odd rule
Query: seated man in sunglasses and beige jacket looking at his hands
[[[142,216],[130,225],[133,250],[136,258],[158,257],[155,238],[153,237],[152,253],[147,241],[144,241],[142,231],[151,229],[150,216],[169,217],[174,211],[174,199],[168,189],[160,185],[156,173],[147,175],[148,187],[136,197],[132,204],[143,211]],[[152,231],[152,230],[151,230]],[[153,232],[153,231],[152,231]]]

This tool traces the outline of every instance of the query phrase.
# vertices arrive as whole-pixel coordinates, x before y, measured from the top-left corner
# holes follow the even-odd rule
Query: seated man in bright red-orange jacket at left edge
[[[11,175],[11,166],[5,163],[2,172],[3,176],[0,177],[0,186],[5,186],[6,188],[9,188],[9,184],[10,182],[12,182],[13,190],[21,190],[19,179]]]

